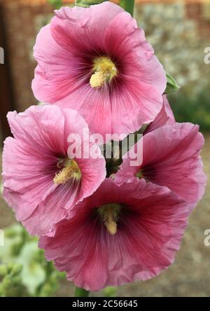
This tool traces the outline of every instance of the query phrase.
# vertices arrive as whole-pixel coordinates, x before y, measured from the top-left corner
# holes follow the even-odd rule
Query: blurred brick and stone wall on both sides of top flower
[[[118,3],[117,0],[113,2]],[[73,4],[73,0],[63,1],[64,5],[70,3]],[[9,79],[5,83],[13,94],[12,104],[8,108],[5,106],[4,111],[11,109],[11,106],[23,111],[31,104],[36,104],[31,91],[36,67],[32,48],[39,29],[48,23],[53,14],[52,6],[47,0],[0,0],[0,9],[9,67]],[[175,74],[176,78],[177,72],[182,71],[179,73],[181,84],[186,76],[188,83],[190,79],[195,81],[206,75],[204,71],[207,67],[202,68],[201,40],[209,39],[210,0],[136,0],[135,17],[139,25],[145,28],[147,39],[155,47],[170,74]],[[2,72],[0,75],[4,76]],[[5,99],[1,105],[6,105]],[[1,123],[5,118],[3,113]]]

